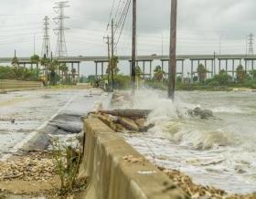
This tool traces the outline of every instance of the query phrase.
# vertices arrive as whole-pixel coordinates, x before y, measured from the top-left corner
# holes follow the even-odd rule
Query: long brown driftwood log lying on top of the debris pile
[[[99,112],[124,118],[146,118],[152,110],[99,110]]]

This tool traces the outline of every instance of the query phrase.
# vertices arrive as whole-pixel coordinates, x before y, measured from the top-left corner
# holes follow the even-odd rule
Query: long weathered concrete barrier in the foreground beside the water
[[[85,120],[85,149],[80,170],[89,176],[86,199],[185,199],[165,173],[133,150],[123,138],[98,119]],[[139,162],[129,162],[131,156]]]

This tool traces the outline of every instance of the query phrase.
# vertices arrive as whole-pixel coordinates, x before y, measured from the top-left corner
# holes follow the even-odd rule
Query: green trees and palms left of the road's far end
[[[80,80],[76,73],[75,68],[69,69],[57,59],[39,58],[37,55],[30,58],[30,67],[25,68],[16,57],[12,59],[11,66],[0,66],[0,79],[42,81],[48,86],[74,85]]]

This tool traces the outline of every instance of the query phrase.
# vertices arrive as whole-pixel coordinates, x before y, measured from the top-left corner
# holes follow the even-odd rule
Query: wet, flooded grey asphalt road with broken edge
[[[0,94],[0,160],[5,161],[29,143],[34,142],[34,147],[40,149],[48,134],[80,132],[80,117],[93,110],[97,103],[107,103],[108,98],[96,89],[42,89]]]

